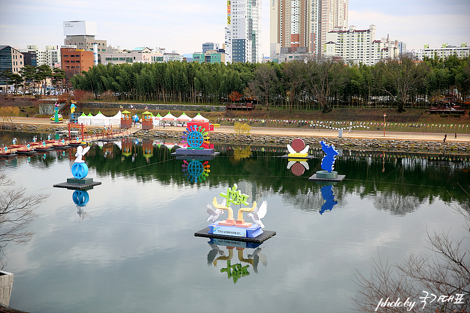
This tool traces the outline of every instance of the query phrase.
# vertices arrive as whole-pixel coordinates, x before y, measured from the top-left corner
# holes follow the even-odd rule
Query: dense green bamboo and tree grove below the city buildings
[[[238,92],[268,108],[329,111],[386,105],[400,111],[426,108],[449,96],[468,102],[470,60],[449,56],[417,62],[405,54],[373,66],[313,58],[282,64],[100,64],[71,82],[95,97],[112,91],[121,101],[223,104]]]

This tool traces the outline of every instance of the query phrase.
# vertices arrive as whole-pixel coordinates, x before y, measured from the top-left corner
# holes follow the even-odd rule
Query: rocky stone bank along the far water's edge
[[[15,124],[4,125],[2,129],[16,130],[22,132],[45,132],[53,133],[56,131],[67,130],[67,127],[58,125],[25,125]],[[93,133],[101,132],[101,127],[91,128]],[[161,130],[140,130],[133,136],[137,138],[161,138],[161,139],[181,139],[182,131],[161,131]],[[210,140],[220,143],[237,144],[261,144],[285,146],[291,143],[296,136],[282,135],[236,135],[225,133],[211,133]],[[382,140],[382,139],[354,139],[354,138],[323,138],[306,136],[302,137],[306,144],[315,145],[319,141],[325,140],[333,143],[336,147],[346,149],[368,149],[380,151],[407,151],[407,152],[452,152],[459,154],[468,154],[470,151],[467,142],[436,142],[436,141],[414,141],[414,140]]]

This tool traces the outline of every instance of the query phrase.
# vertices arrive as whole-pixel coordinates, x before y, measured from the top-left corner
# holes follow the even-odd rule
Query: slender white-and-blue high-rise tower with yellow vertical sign
[[[227,1],[225,53],[227,62],[261,61],[261,0]]]

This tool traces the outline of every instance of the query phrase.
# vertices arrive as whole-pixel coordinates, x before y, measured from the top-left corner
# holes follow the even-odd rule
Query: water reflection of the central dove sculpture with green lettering
[[[253,267],[253,271],[256,274],[258,274],[258,266],[260,264],[263,266],[268,265],[266,255],[261,253],[264,247],[260,247],[259,243],[245,243],[211,238],[208,244],[211,250],[207,254],[207,265],[210,266],[213,264],[217,267],[220,261],[225,261],[224,265],[226,265],[226,267],[222,267],[220,272],[227,273],[227,278],[232,278],[234,283],[236,283],[238,279],[250,275],[248,271],[250,265]],[[223,250],[224,248],[225,251]],[[232,262],[236,262],[236,260],[234,260],[234,250],[236,250],[238,262],[232,264]],[[243,263],[246,263],[246,265]]]

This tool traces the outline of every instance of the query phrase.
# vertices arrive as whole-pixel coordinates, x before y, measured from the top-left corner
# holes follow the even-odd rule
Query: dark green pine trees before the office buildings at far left
[[[26,94],[46,94],[48,82],[62,90],[64,87],[65,71],[48,65],[32,66],[25,65],[19,74],[13,73],[10,69],[0,72],[0,79],[7,86],[13,86],[14,92],[18,93],[21,88],[22,93]]]

